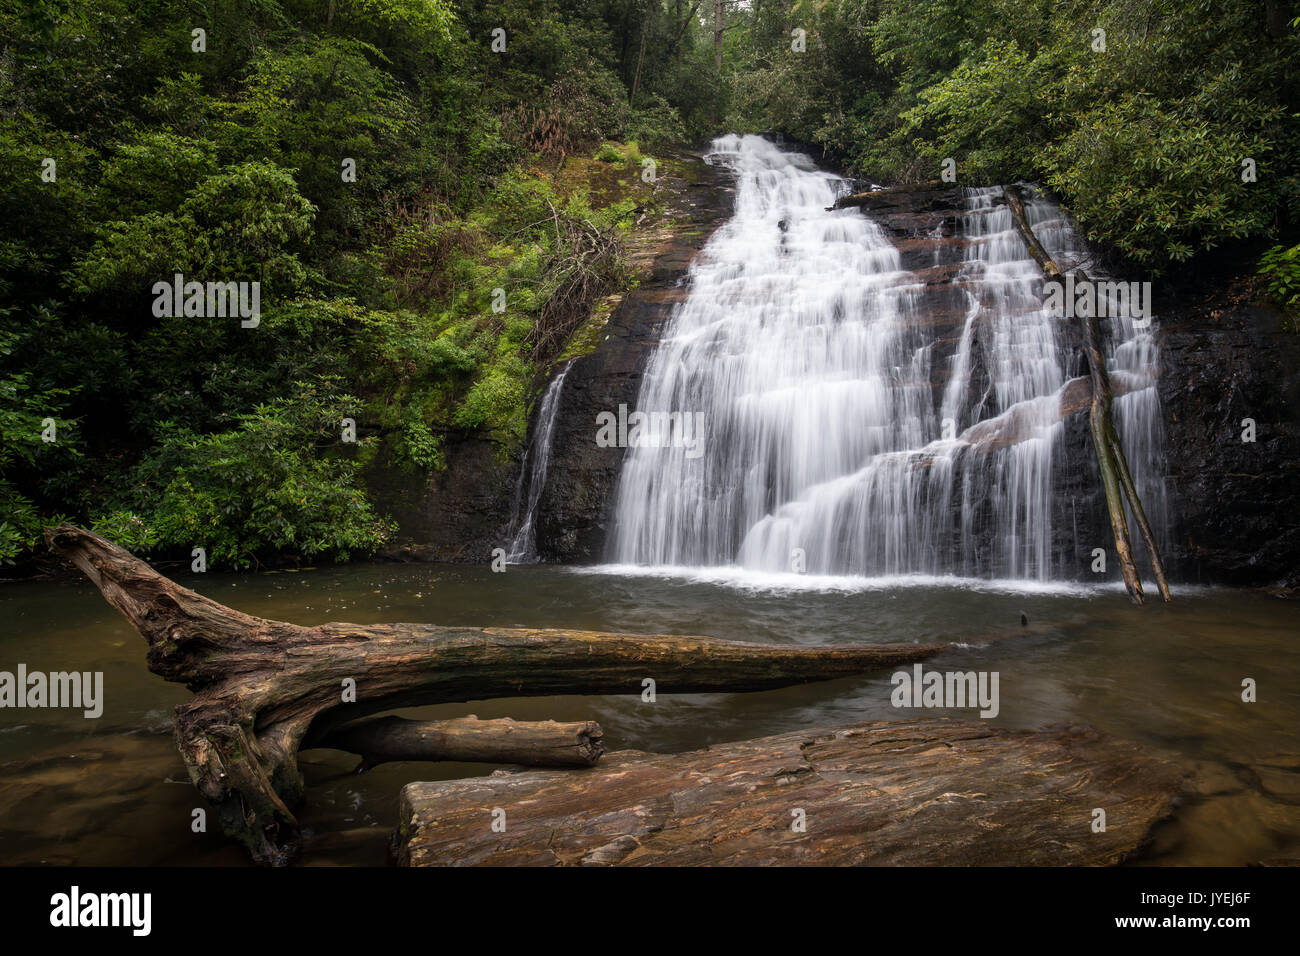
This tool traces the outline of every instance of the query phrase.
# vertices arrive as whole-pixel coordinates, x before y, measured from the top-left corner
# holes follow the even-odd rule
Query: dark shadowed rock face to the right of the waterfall
[[[1166,561],[1176,580],[1300,587],[1300,334],[1222,286],[1175,295],[1160,329]]]

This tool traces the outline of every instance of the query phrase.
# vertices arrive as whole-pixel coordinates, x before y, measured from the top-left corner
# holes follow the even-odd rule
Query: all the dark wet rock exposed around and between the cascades
[[[670,221],[645,230],[633,248],[640,285],[598,329],[594,351],[569,369],[537,520],[537,548],[546,561],[590,563],[606,557],[624,450],[595,445],[595,416],[616,414],[620,405],[634,407],[649,354],[686,295],[686,268],[729,215],[728,177],[699,157],[679,157],[663,187]],[[885,230],[902,265],[919,280],[916,304],[933,341],[937,408],[968,308],[965,290],[953,281],[966,251],[965,239],[954,235],[967,212],[963,191],[945,183],[880,190],[867,194],[861,211]],[[1243,254],[1217,269],[1183,269],[1156,285],[1166,450],[1161,480],[1169,519],[1160,544],[1175,584],[1268,585],[1287,596],[1300,587],[1300,334],[1282,330],[1278,312],[1252,304],[1235,289],[1232,274],[1244,273],[1248,259]],[[1121,280],[1144,278],[1113,272]],[[991,343],[983,336],[983,329],[974,330],[970,408],[984,407],[992,394]],[[1065,325],[1062,338],[1066,375],[1084,373],[1072,324]],[[1253,442],[1242,441],[1245,419],[1254,421]],[[422,485],[391,470],[374,484],[403,538],[422,549],[394,557],[486,561],[504,544],[517,464],[502,464],[494,446],[469,441],[448,447],[448,466]],[[972,494],[976,523],[993,527],[988,489]],[[1084,414],[1063,423],[1052,502],[1054,574],[1097,580],[1092,551],[1102,548],[1113,557],[1113,536]],[[956,515],[948,519],[956,527]],[[1139,567],[1147,567],[1136,535],[1134,548]],[[975,546],[970,572],[991,566],[985,551],[992,548]]]

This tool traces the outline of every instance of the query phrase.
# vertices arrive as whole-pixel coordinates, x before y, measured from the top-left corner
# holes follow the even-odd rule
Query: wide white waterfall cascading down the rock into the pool
[[[965,310],[945,332],[884,230],[828,211],[845,179],[758,137],[723,137],[711,159],[736,172],[736,209],[692,265],[636,406],[694,414],[702,446],[628,442],[610,557],[1078,576],[1052,481],[1062,389],[1082,369],[1066,367],[1063,320],[1001,190],[966,191],[952,278]],[[1034,196],[1027,215],[1060,261],[1084,259],[1060,208]],[[1162,529],[1154,341],[1131,320],[1114,338],[1112,368],[1132,388],[1117,427]]]

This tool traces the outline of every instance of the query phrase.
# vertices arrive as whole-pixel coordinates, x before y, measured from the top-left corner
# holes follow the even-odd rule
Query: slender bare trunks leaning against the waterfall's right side
[[[1030,248],[1030,255],[1043,269],[1049,282],[1060,282],[1065,273],[1056,264],[1048,251],[1039,242],[1030,226],[1030,220],[1024,215],[1024,204],[1015,186],[1006,186],[1002,190],[1006,204],[1011,211],[1011,220],[1015,222],[1020,238]],[[1080,269],[1080,278],[1087,282],[1088,276]],[[1124,457],[1119,434],[1115,432],[1115,423],[1110,414],[1113,393],[1110,390],[1110,373],[1106,369],[1106,358],[1101,351],[1101,329],[1096,315],[1080,316],[1079,325],[1083,330],[1083,352],[1088,359],[1088,377],[1092,386],[1092,406],[1088,423],[1092,429],[1092,445],[1097,453],[1097,467],[1101,471],[1101,484],[1106,493],[1106,511],[1110,514],[1110,528],[1115,537],[1115,553],[1119,557],[1119,570],[1124,579],[1124,587],[1135,604],[1143,602],[1141,579],[1134,563],[1132,548],[1128,542],[1128,522],[1124,518],[1123,499],[1128,499],[1128,507],[1138,522],[1138,529],[1147,544],[1147,553],[1150,555],[1152,574],[1161,597],[1170,600],[1169,581],[1165,579],[1165,564],[1160,558],[1160,548],[1156,545],[1156,536],[1152,533],[1147,520],[1147,511],[1138,497],[1138,488],[1128,471],[1128,459]],[[1121,497],[1123,496],[1123,497]]]

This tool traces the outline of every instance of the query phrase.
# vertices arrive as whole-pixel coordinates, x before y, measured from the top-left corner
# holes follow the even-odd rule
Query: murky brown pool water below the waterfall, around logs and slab
[[[429,622],[703,633],[779,644],[1008,640],[935,658],[936,669],[997,670],[992,723],[1084,723],[1164,748],[1195,770],[1192,793],[1144,862],[1242,865],[1300,857],[1300,654],[1294,604],[1257,592],[1182,589],[1169,606],[1132,607],[1115,589],[1020,588],[941,579],[790,581],[620,568],[351,564],[178,579],[251,614],[325,620]],[[1020,614],[1031,628],[1020,630]],[[244,864],[218,834],[194,834],[202,800],[172,744],[172,709],[188,697],[150,674],[144,643],[88,584],[0,585],[0,670],[104,671],[104,715],[0,710],[0,858],[8,864]],[[978,662],[978,663],[976,663]],[[1258,702],[1243,704],[1243,678]],[[547,697],[417,708],[595,719],[611,749],[685,750],[850,721],[918,715],[889,705],[889,674],[750,695],[675,696],[640,685],[620,697]],[[931,714],[932,711],[926,711]],[[963,711],[970,719],[979,719]],[[303,862],[386,861],[398,790],[411,780],[490,773],[489,765],[391,763],[303,754],[309,836]]]

